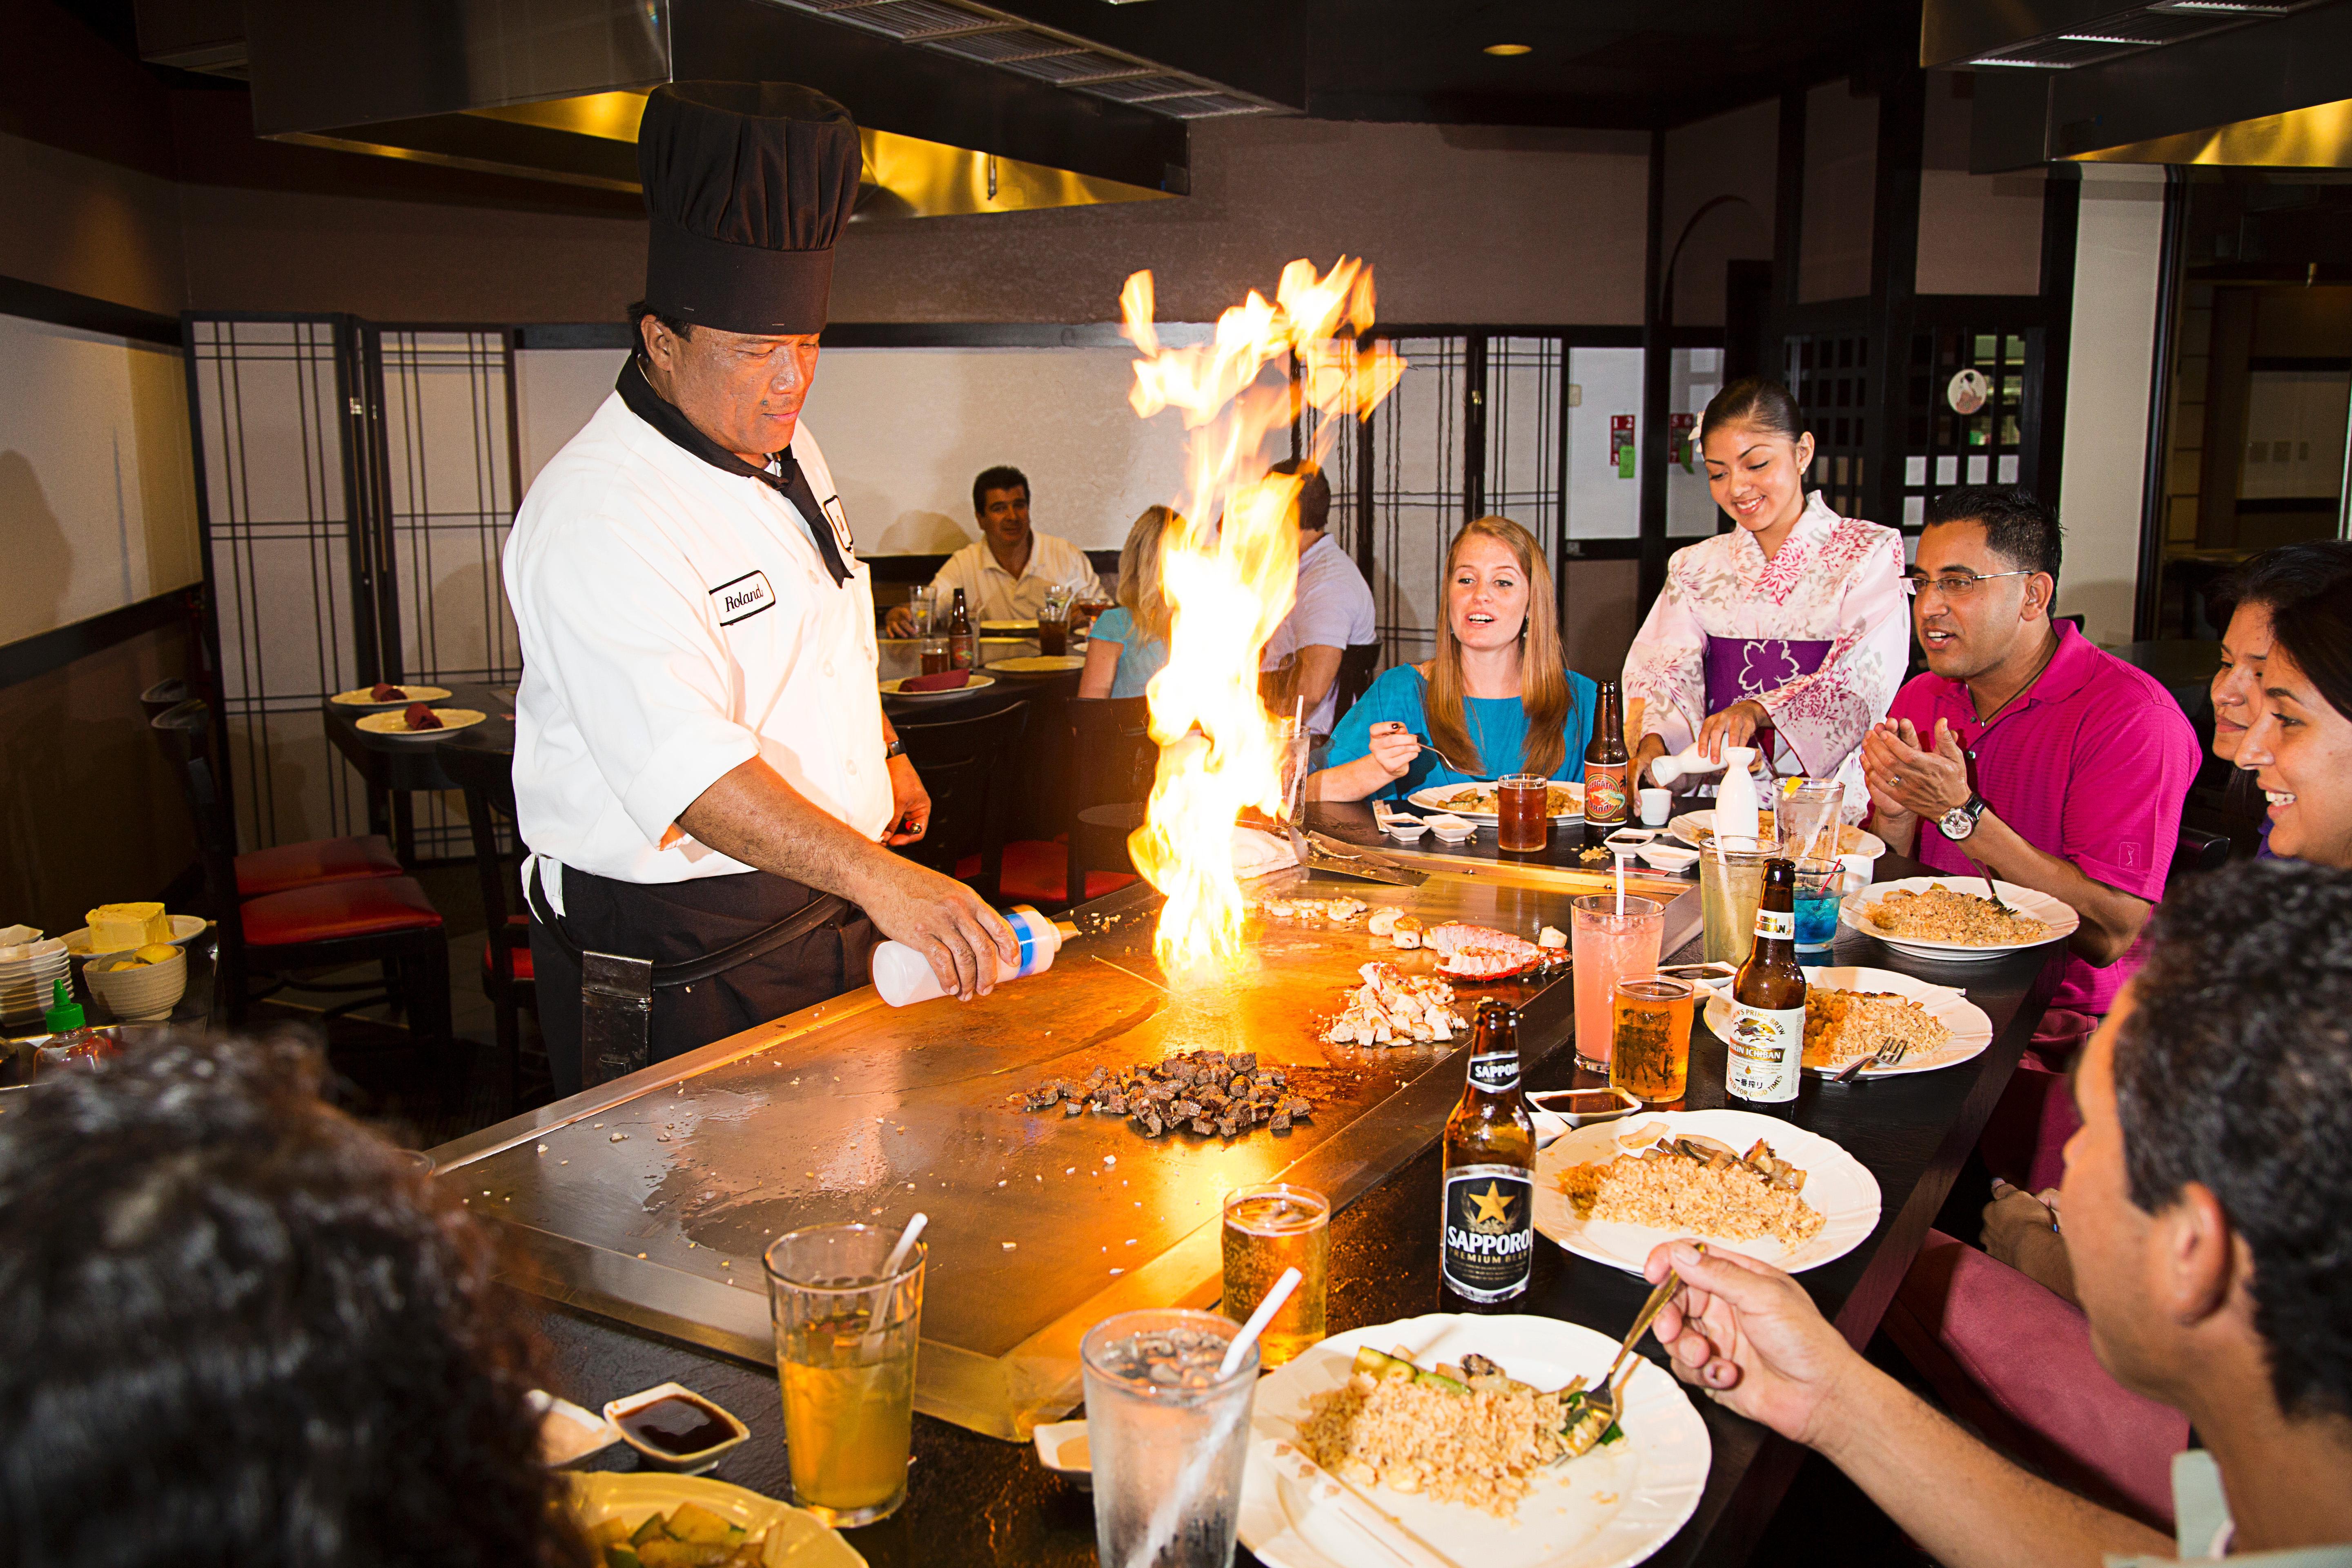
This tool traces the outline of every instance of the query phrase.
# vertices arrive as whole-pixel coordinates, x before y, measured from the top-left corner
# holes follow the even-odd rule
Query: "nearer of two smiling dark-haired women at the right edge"
[[[2347,870],[2352,583],[2281,604],[2270,625],[2263,705],[2237,743],[2237,766],[2263,785],[2272,853]]]

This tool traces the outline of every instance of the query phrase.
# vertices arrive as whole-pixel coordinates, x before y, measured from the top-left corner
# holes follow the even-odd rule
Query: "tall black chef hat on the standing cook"
[[[670,82],[637,127],[644,303],[720,331],[818,331],[858,197],[858,127],[793,82]]]

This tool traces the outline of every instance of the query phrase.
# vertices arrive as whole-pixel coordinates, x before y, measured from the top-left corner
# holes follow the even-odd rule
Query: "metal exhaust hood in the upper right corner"
[[[1919,63],[1976,73],[1969,167],[2352,167],[2347,0],[1926,0]]]

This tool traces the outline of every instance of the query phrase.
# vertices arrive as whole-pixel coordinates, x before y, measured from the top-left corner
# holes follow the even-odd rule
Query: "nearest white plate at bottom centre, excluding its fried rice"
[[[1357,1347],[1402,1354],[1421,1368],[1458,1363],[1477,1352],[1501,1363],[1510,1378],[1545,1392],[1578,1375],[1599,1378],[1616,1356],[1616,1342],[1606,1335],[1545,1316],[1435,1312],[1322,1340],[1258,1382],[1251,1413],[1242,1544],[1270,1568],[1364,1568],[1390,1561],[1628,1568],[1658,1552],[1698,1509],[1712,1458],[1708,1427],[1682,1385],[1646,1359],[1635,1359],[1625,1382],[1625,1436],[1534,1472],[1526,1490],[1515,1497],[1515,1516],[1472,1502],[1437,1502],[1425,1490],[1343,1483],[1308,1458],[1301,1432],[1317,1420],[1317,1396],[1324,1396],[1324,1425],[1312,1432],[1329,1443],[1329,1413],[1345,1399]],[[1376,1446],[1411,1436],[1367,1432],[1364,1441]],[[1510,1455],[1472,1448],[1461,1458],[1463,1476],[1472,1476]],[[1385,1552],[1367,1533],[1378,1535]]]

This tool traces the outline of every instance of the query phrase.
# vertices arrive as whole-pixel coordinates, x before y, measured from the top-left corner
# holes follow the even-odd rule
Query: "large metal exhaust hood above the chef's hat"
[[[139,0],[141,52],[242,75],[254,132],[637,188],[644,94],[795,80],[866,132],[858,216],[1183,195],[1188,122],[1291,106],[971,0]]]

